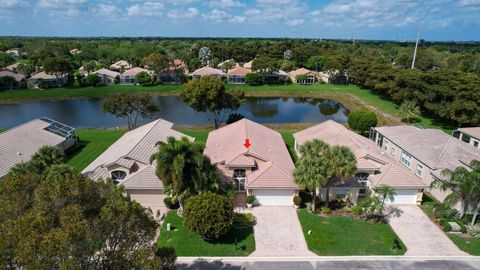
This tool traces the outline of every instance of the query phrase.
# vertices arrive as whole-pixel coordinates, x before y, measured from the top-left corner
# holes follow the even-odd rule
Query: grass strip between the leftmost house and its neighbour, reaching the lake
[[[77,130],[79,142],[67,153],[68,164],[81,171],[118,140],[126,130]]]

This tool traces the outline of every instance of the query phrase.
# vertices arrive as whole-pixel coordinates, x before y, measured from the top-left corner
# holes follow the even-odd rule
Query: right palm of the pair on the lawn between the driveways
[[[357,172],[357,158],[352,150],[346,146],[333,146],[326,151],[326,174],[329,181],[345,180]],[[327,186],[327,202],[329,201],[330,188]]]

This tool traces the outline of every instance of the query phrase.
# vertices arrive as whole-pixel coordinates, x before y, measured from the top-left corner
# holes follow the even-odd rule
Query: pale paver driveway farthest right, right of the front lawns
[[[392,229],[407,246],[405,255],[458,256],[461,251],[418,206],[392,206],[387,216]]]

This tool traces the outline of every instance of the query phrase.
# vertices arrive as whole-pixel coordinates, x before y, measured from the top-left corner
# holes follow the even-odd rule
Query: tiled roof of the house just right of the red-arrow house
[[[379,174],[369,177],[373,187],[389,185],[395,188],[424,188],[426,185],[412,175],[402,164],[385,155],[376,144],[345,126],[327,120],[323,123],[293,134],[295,141],[302,145],[307,141],[319,139],[329,145],[347,146],[357,157],[357,168],[376,170]]]

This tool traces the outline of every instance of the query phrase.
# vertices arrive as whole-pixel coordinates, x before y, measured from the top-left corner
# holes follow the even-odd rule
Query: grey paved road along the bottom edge
[[[267,259],[268,260],[268,259]],[[393,258],[393,259],[309,259],[299,261],[205,261],[202,259],[194,262],[179,262],[177,269],[185,270],[476,270],[480,269],[480,259],[423,259],[423,258]]]

